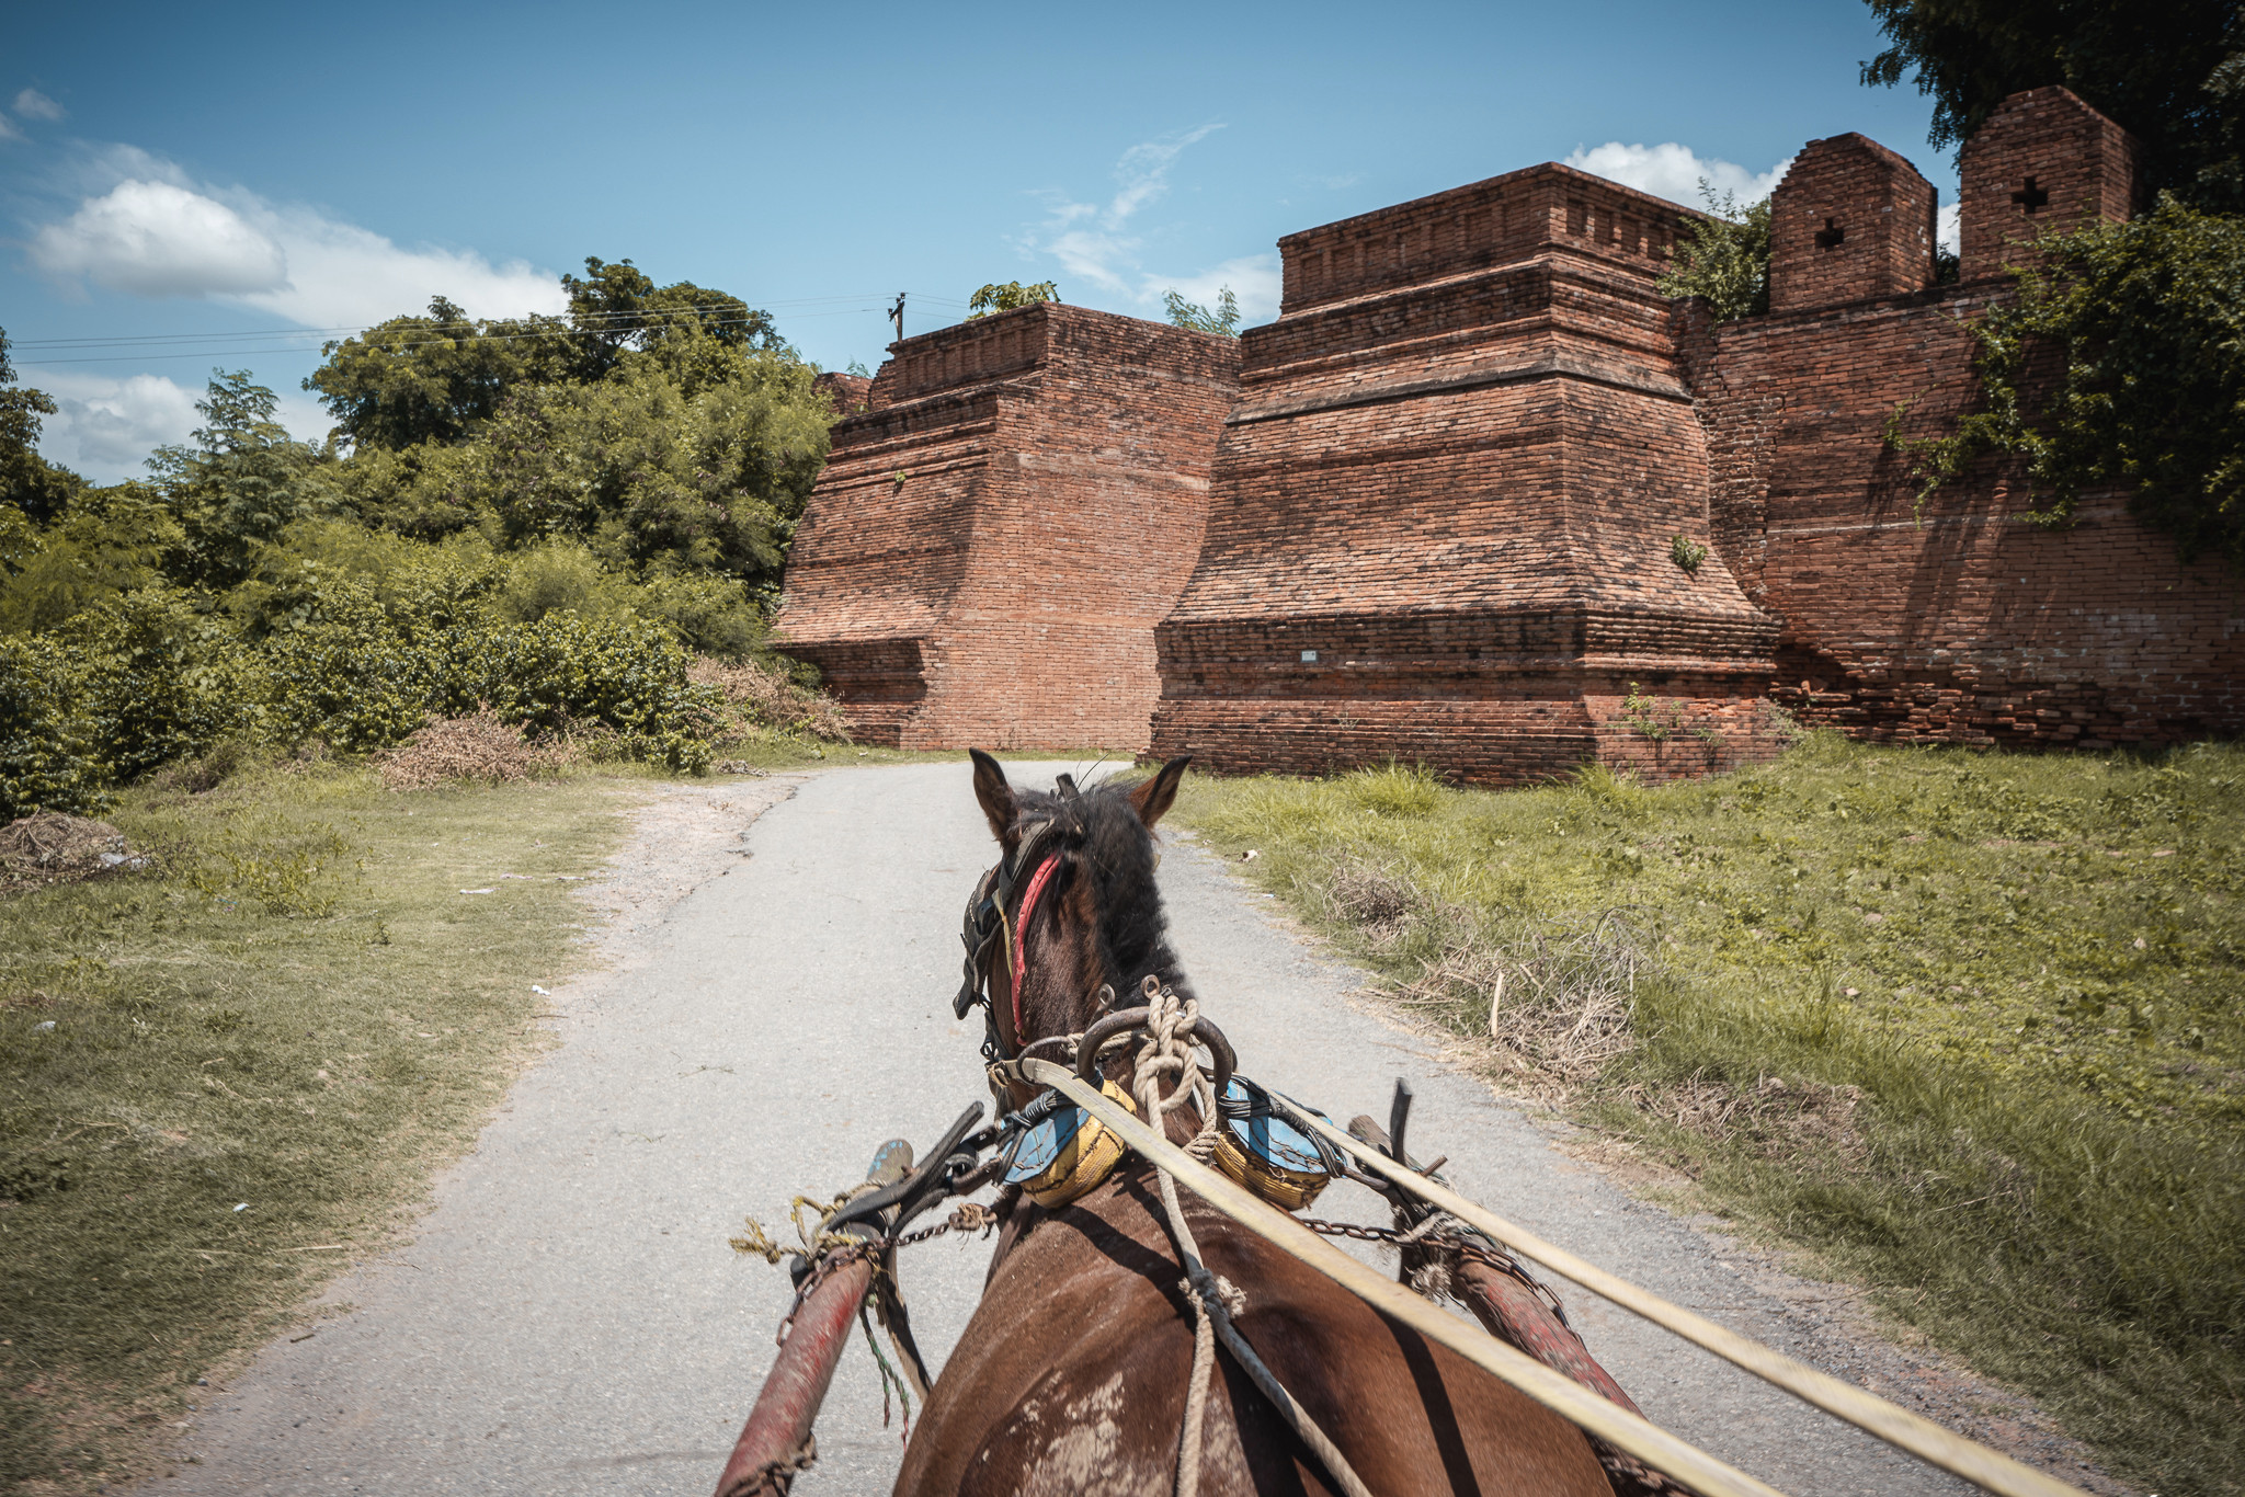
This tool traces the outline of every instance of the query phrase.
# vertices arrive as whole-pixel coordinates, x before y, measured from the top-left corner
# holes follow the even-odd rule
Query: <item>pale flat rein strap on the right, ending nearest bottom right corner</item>
[[[1619,1279],[1594,1264],[1585,1264],[1565,1248],[1556,1248],[1533,1232],[1515,1228],[1502,1216],[1466,1201],[1455,1190],[1430,1181],[1417,1169],[1405,1169],[1378,1149],[1365,1147],[1356,1138],[1349,1138],[1329,1124],[1325,1118],[1313,1118],[1300,1106],[1289,1106],[1286,1111],[1302,1127],[1311,1127],[1322,1133],[1334,1147],[1347,1149],[1367,1169],[1387,1176],[1421,1201],[1439,1205],[1466,1225],[1488,1232],[1513,1252],[1531,1257],[1551,1273],[1574,1279],[1589,1293],[1612,1299],[1621,1308],[1643,1315],[1657,1326],[1675,1331],[1684,1340],[1713,1351],[1726,1362],[1744,1367],[1756,1378],[1774,1383],[1796,1398],[1814,1403],[1825,1414],[1843,1418],[1857,1430],[1879,1436],[1888,1445],[1908,1450],[1919,1461],[1955,1472],[1973,1486],[2000,1493],[2003,1497],[2083,1497],[2081,1488],[2068,1486],[2056,1477],[2045,1477],[2032,1466],[2020,1466],[2007,1454],[1998,1454],[1978,1441],[1969,1441],[1953,1430],[1942,1430],[1908,1409],[1895,1407],[1877,1394],[1841,1383],[1839,1378],[1821,1374],[1814,1367],[1805,1367],[1803,1362],[1796,1362],[1780,1351],[1771,1351],[1738,1331],[1726,1331],[1704,1315],[1693,1315],[1679,1304],[1670,1304],[1650,1291],[1637,1288],[1628,1279]],[[1630,1454],[1637,1452],[1632,1450]]]

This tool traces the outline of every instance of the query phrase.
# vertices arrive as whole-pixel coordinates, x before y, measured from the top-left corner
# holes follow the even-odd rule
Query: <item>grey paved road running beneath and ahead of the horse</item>
[[[732,788],[669,806],[674,826],[752,821],[748,857],[680,853],[640,880],[622,965],[561,994],[566,1044],[440,1181],[418,1239],[337,1284],[328,1299],[348,1313],[213,1389],[186,1436],[200,1463],[153,1486],[709,1490],[788,1302],[781,1270],[727,1250],[741,1212],[770,1219],[797,1192],[862,1176],[882,1138],[925,1145],[983,1095],[979,1028],[954,1023],[947,1001],[959,909],[990,855],[968,768],[842,770],[792,790],[763,795],[770,808]],[[1877,1351],[1850,1365],[1805,1308],[1812,1291],[1769,1293],[1722,1239],[1569,1163],[1351,1008],[1358,979],[1286,936],[1210,855],[1176,844],[1161,878],[1185,965],[1250,1075],[1340,1115],[1383,1111],[1408,1075],[1417,1151],[1450,1154],[1466,1194],[1843,1374],[1879,1365]],[[1343,1187],[1320,1205],[1372,1219],[1369,1196],[1343,1194],[1363,1196]],[[914,1250],[907,1291],[932,1358],[965,1324],[983,1264],[979,1243]],[[1567,1304],[1648,1416],[1789,1493],[1964,1490],[1580,1291]],[[797,1490],[887,1490],[898,1448],[853,1347],[819,1425],[824,1459]]]

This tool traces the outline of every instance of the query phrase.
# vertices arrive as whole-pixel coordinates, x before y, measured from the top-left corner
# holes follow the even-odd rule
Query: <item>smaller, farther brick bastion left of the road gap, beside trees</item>
[[[775,640],[869,743],[1143,747],[1237,359],[1057,303],[896,343],[833,431]]]

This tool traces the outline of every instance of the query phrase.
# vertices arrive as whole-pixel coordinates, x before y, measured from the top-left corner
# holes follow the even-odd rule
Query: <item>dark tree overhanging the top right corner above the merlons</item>
[[[1868,0],[1893,43],[1863,83],[1913,74],[1935,146],[2027,88],[2063,83],[2133,130],[2151,186],[2245,209],[2245,11],[2234,0]]]

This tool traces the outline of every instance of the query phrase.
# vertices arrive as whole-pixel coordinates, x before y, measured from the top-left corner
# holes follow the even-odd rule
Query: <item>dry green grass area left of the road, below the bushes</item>
[[[543,1044],[532,985],[590,956],[561,875],[649,788],[132,790],[155,871],[0,900],[0,1488],[146,1468],[198,1376],[404,1221]]]

